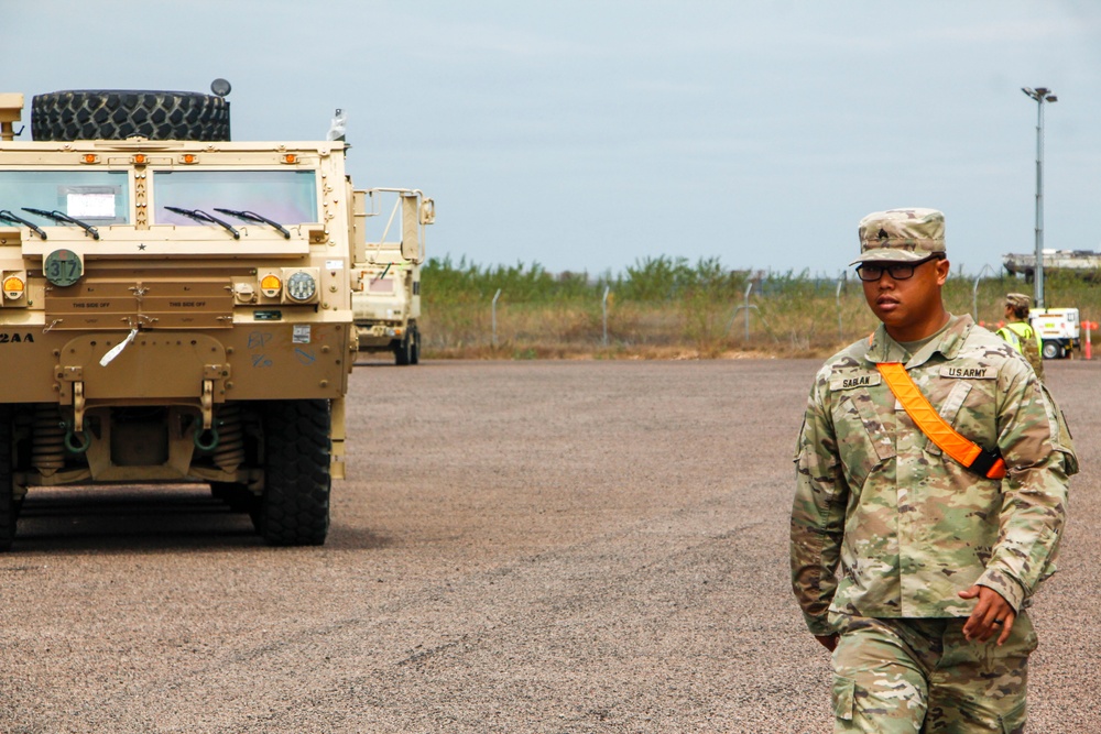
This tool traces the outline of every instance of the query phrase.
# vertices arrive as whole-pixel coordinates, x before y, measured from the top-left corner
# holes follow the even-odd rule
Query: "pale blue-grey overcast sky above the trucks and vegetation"
[[[956,265],[1101,250],[1101,2],[4,0],[0,91],[233,85],[235,140],[348,113],[360,188],[436,200],[430,255],[836,275],[941,209]],[[30,138],[29,112],[23,138]],[[1093,212],[1093,213],[1091,213]]]

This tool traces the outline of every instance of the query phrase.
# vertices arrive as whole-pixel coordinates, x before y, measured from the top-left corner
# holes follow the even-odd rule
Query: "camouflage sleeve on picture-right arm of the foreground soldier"
[[[998,406],[1002,482],[998,541],[978,582],[1021,606],[1055,572],[1067,514],[1068,478],[1078,459],[1055,399],[1036,377],[1016,371]]]

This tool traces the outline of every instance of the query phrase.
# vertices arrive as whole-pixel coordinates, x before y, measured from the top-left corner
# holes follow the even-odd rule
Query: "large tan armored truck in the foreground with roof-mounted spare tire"
[[[28,490],[207,482],[318,545],[356,352],[345,143],[215,95],[0,95],[0,548]],[[20,135],[22,138],[22,135]]]

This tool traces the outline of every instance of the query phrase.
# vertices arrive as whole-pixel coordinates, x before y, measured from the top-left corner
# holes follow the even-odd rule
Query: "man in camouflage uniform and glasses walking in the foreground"
[[[860,222],[882,321],[818,372],[799,436],[792,585],[832,650],[835,732],[1024,731],[1027,606],[1055,571],[1078,461],[1051,396],[1005,341],[949,314],[944,215]],[[1004,479],[945,456],[876,369],[901,362]]]

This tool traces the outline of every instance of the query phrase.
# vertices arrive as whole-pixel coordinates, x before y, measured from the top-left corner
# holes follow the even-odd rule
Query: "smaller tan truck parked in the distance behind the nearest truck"
[[[421,361],[421,263],[424,228],[436,220],[435,202],[419,190],[372,188],[356,191],[357,211],[378,217],[391,201],[378,240],[356,240],[351,306],[362,352],[393,352],[397,364]],[[401,240],[388,240],[401,215]],[[366,228],[364,228],[366,230]]]

